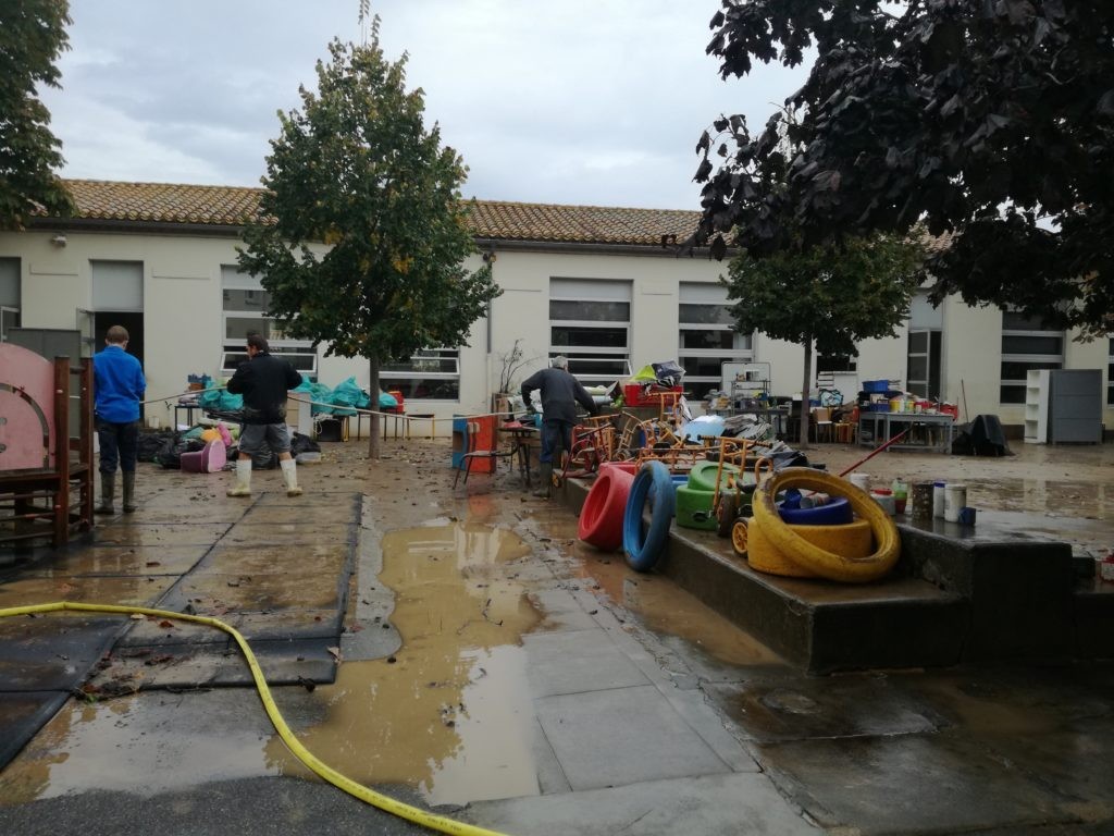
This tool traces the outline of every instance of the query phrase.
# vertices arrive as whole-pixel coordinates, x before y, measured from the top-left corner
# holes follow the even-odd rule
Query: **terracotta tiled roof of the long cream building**
[[[76,217],[136,223],[240,225],[254,216],[260,188],[168,183],[65,181]],[[662,236],[683,241],[696,229],[698,212],[560,206],[477,201],[470,212],[477,237],[585,244],[651,244]]]

